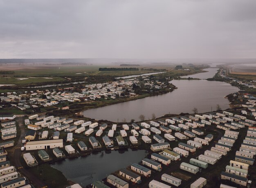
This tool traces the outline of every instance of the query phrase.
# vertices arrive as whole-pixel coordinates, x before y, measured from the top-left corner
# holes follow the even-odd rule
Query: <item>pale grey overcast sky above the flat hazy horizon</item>
[[[0,0],[0,58],[256,58],[256,0]]]

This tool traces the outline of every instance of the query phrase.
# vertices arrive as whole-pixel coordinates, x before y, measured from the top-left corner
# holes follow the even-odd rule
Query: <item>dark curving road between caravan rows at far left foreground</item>
[[[23,122],[24,119],[23,118],[16,118],[16,121],[18,121],[19,127],[20,127],[20,138],[18,140],[18,143],[14,146],[15,150],[13,153],[13,165],[16,166],[16,168],[18,169],[18,171],[24,175],[25,177],[27,177],[32,184],[37,187],[37,188],[42,188],[45,187],[46,184],[39,179],[38,177],[36,177],[36,175],[34,175],[32,172],[30,172],[29,170],[27,170],[27,167],[23,167],[22,163],[20,161],[21,156],[22,156],[22,151],[20,150],[20,147],[22,147],[22,139],[24,138],[25,134],[26,134],[26,130],[24,128]]]

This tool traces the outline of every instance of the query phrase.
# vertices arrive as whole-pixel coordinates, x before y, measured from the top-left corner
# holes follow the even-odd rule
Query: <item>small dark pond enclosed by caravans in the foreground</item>
[[[101,181],[112,172],[126,168],[131,163],[140,162],[147,154],[146,150],[111,150],[108,154],[103,151],[86,157],[65,159],[51,166],[63,172],[68,180],[86,186],[93,181]]]

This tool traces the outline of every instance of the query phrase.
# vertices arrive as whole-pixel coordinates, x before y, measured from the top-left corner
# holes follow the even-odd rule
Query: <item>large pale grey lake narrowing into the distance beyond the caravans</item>
[[[211,78],[216,74],[217,69],[209,69],[214,69],[215,72],[199,73],[200,77]],[[197,77],[197,74],[193,76]],[[171,83],[178,89],[167,94],[85,110],[82,114],[97,120],[104,119],[114,122],[126,120],[129,122],[131,119],[139,121],[140,114],[145,115],[146,119],[151,119],[153,113],[157,117],[168,113],[191,113],[194,107],[198,108],[199,112],[211,112],[211,109],[216,110],[217,104],[223,110],[229,108],[229,101],[224,97],[239,91],[238,87],[218,81],[173,80]]]

